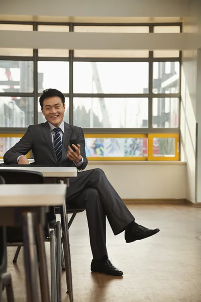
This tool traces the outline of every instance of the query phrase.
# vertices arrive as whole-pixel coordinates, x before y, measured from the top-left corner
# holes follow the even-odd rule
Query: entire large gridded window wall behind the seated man
[[[69,31],[165,36],[179,34],[181,24],[0,24],[0,30],[33,29],[50,37]],[[19,132],[46,121],[39,97],[55,88],[65,96],[64,121],[83,128],[89,160],[179,160],[180,64],[181,51],[171,49],[0,47],[0,157]]]

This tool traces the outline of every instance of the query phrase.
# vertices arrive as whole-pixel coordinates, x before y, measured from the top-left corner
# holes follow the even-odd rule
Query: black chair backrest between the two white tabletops
[[[43,174],[27,170],[0,169],[0,176],[5,179],[6,184],[42,184]]]

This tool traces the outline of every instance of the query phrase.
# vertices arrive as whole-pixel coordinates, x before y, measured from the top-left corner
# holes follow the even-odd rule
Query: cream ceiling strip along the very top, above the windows
[[[2,15],[186,17],[188,0],[2,0]]]

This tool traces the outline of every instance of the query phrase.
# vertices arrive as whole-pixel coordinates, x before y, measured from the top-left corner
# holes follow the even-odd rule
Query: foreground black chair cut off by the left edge
[[[5,180],[1,175],[0,184],[5,184]],[[6,228],[0,226],[0,302],[5,287],[8,302],[14,302],[11,274],[7,272]]]

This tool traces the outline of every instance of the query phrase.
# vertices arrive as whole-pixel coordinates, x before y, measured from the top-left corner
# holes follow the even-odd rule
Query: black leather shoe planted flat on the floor
[[[103,260],[92,260],[91,271],[96,273],[104,273],[111,276],[122,276],[124,273],[115,267],[107,258]]]

